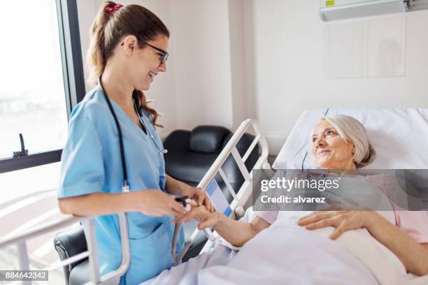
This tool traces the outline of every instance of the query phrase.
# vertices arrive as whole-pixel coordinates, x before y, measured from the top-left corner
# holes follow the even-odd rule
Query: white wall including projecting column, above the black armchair
[[[252,0],[171,0],[178,128],[257,118]]]

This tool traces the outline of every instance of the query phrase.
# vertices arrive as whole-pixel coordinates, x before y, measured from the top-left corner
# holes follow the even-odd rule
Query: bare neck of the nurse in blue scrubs
[[[123,73],[107,63],[101,76],[101,82],[111,100],[124,110],[134,110],[134,102],[132,101],[134,87],[129,84],[127,78],[124,78]]]

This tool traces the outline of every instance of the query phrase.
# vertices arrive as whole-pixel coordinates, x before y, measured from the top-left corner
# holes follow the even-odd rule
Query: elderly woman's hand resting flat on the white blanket
[[[306,226],[308,230],[334,226],[336,230],[331,233],[331,240],[336,240],[345,231],[357,228],[369,228],[373,211],[318,211],[299,219],[299,226]]]

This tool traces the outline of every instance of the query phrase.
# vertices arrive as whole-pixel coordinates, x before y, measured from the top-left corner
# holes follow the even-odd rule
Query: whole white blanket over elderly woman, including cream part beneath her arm
[[[332,241],[327,236],[333,228],[297,226],[301,214],[281,212],[241,251],[217,244],[144,284],[428,284],[428,277],[406,275],[398,258],[367,231]]]

